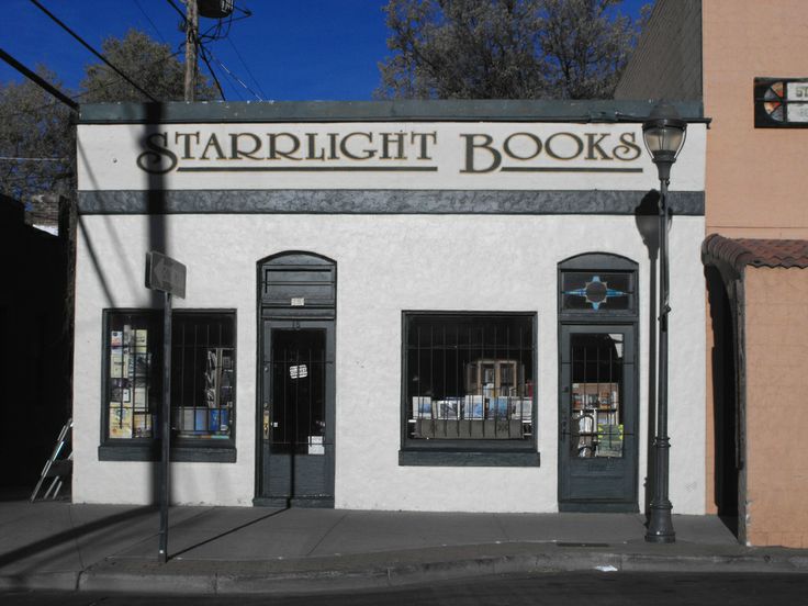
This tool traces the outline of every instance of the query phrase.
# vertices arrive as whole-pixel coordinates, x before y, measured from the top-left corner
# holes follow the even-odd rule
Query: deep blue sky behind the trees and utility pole
[[[108,36],[130,27],[179,49],[179,15],[167,0],[40,0],[100,50]],[[636,16],[650,0],[626,0]],[[175,0],[181,5],[180,0]],[[252,16],[235,21],[227,40],[207,46],[214,57],[265,100],[367,100],[379,86],[377,64],[388,56],[382,8],[386,0],[236,0]],[[96,57],[29,0],[3,0],[0,48],[30,68],[44,64],[77,89]],[[201,19],[200,29],[213,24]],[[256,97],[221,66],[214,69],[227,100]],[[23,79],[0,61],[0,81]]]

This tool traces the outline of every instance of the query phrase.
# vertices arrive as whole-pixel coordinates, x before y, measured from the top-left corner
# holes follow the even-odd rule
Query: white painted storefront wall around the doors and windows
[[[307,250],[337,262],[336,506],[340,508],[557,510],[557,263],[586,251],[640,262],[630,216],[169,215],[168,255],[188,266],[177,307],[237,310],[237,463],[173,463],[177,503],[249,505],[254,496],[256,261]],[[78,244],[74,500],[152,502],[155,467],[99,462],[102,310],[149,304],[143,285],[149,217],[80,218]],[[672,228],[671,498],[704,513],[705,308],[702,217]],[[538,313],[539,468],[399,467],[402,310]],[[640,460],[647,444],[648,301],[640,321]]]

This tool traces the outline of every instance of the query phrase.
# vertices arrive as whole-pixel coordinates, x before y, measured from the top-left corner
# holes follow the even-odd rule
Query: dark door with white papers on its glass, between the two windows
[[[269,504],[334,506],[334,322],[263,322],[261,487]]]

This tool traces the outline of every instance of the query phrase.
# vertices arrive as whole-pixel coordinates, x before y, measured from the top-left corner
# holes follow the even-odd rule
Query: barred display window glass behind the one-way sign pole
[[[103,440],[146,447],[159,437],[162,313],[104,314]],[[175,311],[171,318],[171,440],[180,448],[232,447],[235,416],[235,313]]]

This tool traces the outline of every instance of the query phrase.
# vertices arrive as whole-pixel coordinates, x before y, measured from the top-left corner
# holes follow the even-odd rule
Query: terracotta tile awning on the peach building
[[[707,236],[702,245],[705,262],[723,261],[738,271],[752,267],[808,268],[808,240],[726,238]]]

